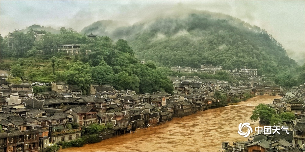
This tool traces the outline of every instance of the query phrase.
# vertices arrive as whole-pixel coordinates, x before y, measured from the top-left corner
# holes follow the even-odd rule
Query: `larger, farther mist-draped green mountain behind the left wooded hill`
[[[107,22],[95,22],[81,33],[123,38],[139,59],[167,67],[212,64],[231,70],[246,66],[258,69],[259,75],[272,75],[297,66],[271,34],[220,13],[196,12],[117,28]],[[113,30],[105,30],[109,26]]]

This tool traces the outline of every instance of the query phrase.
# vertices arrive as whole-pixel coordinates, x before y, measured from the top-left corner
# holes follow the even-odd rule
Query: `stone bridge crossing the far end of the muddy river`
[[[280,86],[273,86],[273,85],[256,85],[255,86],[255,95],[272,95],[277,96],[285,95],[285,88]]]

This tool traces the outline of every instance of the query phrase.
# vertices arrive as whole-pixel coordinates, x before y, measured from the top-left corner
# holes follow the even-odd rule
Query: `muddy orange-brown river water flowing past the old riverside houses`
[[[250,123],[255,133],[259,122],[251,122],[254,106],[271,103],[280,96],[256,96],[237,105],[208,109],[191,116],[174,118],[163,125],[137,130],[84,147],[71,147],[60,152],[117,152],[117,151],[220,151],[224,141],[247,141],[237,133],[239,123]],[[251,106],[250,106],[251,105]],[[252,134],[253,134],[252,133]]]

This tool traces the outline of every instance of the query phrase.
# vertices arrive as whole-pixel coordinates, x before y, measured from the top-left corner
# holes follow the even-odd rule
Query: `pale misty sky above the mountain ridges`
[[[305,0],[198,0],[198,1],[13,1],[0,0],[0,34],[32,24],[64,26],[81,31],[98,20],[121,20],[129,24],[154,16],[188,10],[221,12],[259,26],[282,43],[288,56],[305,63]]]

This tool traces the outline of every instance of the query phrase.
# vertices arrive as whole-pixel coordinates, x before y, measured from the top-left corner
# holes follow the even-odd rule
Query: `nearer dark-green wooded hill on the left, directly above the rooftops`
[[[58,44],[78,44],[81,48],[78,54],[52,52]],[[13,83],[21,83],[20,77],[27,76],[31,82],[66,81],[78,85],[83,94],[88,93],[91,84],[140,93],[173,91],[171,81],[156,65],[140,63],[123,39],[114,42],[108,36],[90,38],[62,27],[60,34],[46,33],[39,41],[33,33],[0,36],[0,45],[0,67],[12,68],[9,81]]]

